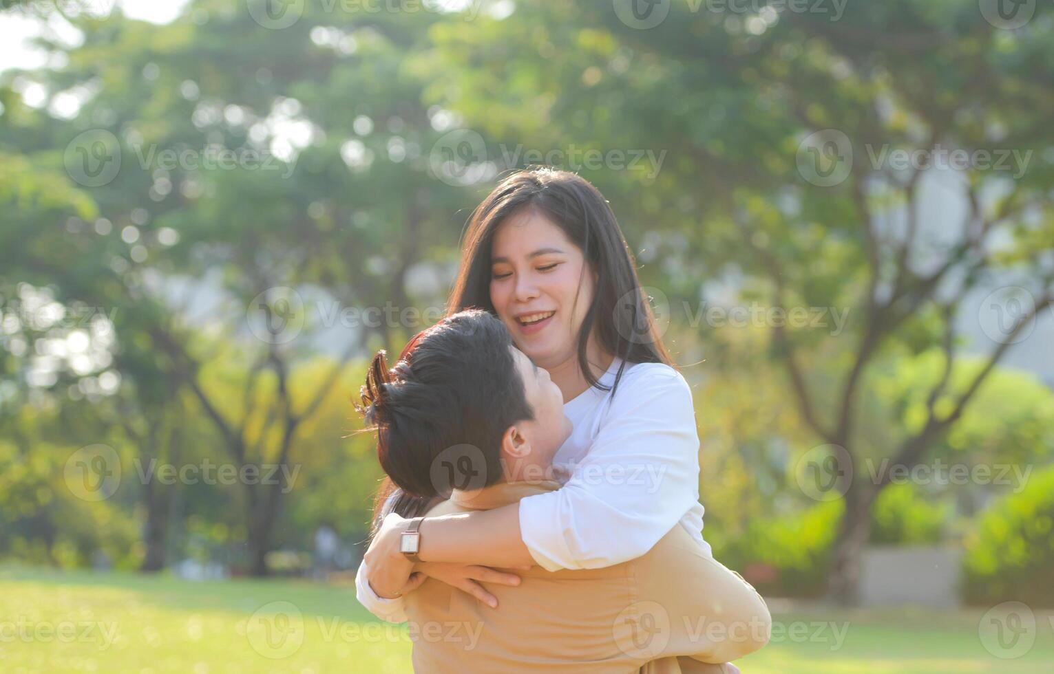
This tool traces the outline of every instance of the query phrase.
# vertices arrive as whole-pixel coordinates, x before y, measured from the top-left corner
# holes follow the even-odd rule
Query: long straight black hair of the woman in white
[[[597,275],[597,291],[578,336],[578,359],[590,386],[598,381],[586,358],[590,333],[599,345],[626,363],[662,362],[672,366],[637,277],[632,253],[604,196],[588,180],[567,171],[536,167],[505,178],[475,209],[462,244],[461,271],[447,302],[447,313],[480,306],[492,314],[491,246],[499,226],[526,209],[538,209],[582,251]],[[585,273],[585,270],[583,270]],[[578,296],[575,296],[575,299]]]

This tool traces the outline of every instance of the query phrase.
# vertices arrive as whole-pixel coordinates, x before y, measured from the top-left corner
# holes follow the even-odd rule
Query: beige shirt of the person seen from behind
[[[454,492],[429,515],[489,510],[557,489],[544,481]],[[523,578],[519,587],[487,584],[497,609],[433,578],[407,595],[414,672],[718,672],[702,663],[731,661],[768,639],[760,595],[680,526],[644,556],[612,567],[511,572]],[[679,669],[676,656],[695,662]]]

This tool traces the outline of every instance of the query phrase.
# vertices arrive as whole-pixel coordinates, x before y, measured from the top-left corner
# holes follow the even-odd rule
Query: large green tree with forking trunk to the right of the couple
[[[433,100],[493,143],[668,151],[653,177],[610,161],[571,167],[610,196],[631,241],[648,242],[647,259],[662,263],[642,273],[675,305],[728,273],[743,302],[851,310],[838,335],[769,321],[769,343],[816,440],[845,450],[829,591],[852,601],[870,512],[889,484],[851,479],[853,468],[932,456],[1054,297],[1052,164],[1039,158],[1054,98],[1035,85],[1052,77],[1050,20],[1040,12],[1001,29],[970,0],[850,3],[837,22],[672,3],[659,25],[635,29],[607,5],[520,4],[501,20],[436,25],[421,67],[435,77]],[[935,233],[922,222],[934,161],[899,166],[886,151],[941,148],[1021,161],[954,172],[936,189],[964,204],[961,221]],[[1021,285],[1031,301],[1004,298],[1004,310],[1023,309],[972,377],[954,377],[967,298],[993,282]],[[922,384],[921,421],[870,436],[868,372],[933,348],[943,366]],[[817,376],[827,364],[834,379],[826,368]]]

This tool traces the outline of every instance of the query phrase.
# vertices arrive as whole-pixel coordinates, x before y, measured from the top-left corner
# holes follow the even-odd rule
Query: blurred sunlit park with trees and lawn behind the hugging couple
[[[472,209],[604,193],[748,672],[1054,662],[1047,0],[0,0],[0,669],[408,672],[351,407]]]

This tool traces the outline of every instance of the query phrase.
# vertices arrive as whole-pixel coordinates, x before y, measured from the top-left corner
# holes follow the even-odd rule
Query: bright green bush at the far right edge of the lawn
[[[1054,607],[1054,465],[984,511],[967,538],[963,575],[970,601]]]

